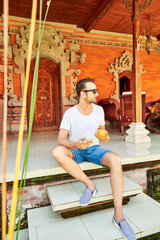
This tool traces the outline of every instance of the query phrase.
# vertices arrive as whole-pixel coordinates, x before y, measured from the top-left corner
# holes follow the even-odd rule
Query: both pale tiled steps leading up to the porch
[[[87,213],[79,205],[84,191],[80,182],[60,184],[47,188],[51,205],[27,211],[29,240],[113,240],[124,239],[112,223],[114,209],[95,206],[113,202],[108,177],[94,179],[98,188]],[[137,239],[160,232],[160,204],[142,192],[142,188],[124,177],[124,216],[133,228]],[[130,201],[129,201],[130,199]],[[78,216],[64,219],[61,213],[79,211]],[[85,214],[84,214],[85,213]],[[69,216],[71,216],[69,214]]]

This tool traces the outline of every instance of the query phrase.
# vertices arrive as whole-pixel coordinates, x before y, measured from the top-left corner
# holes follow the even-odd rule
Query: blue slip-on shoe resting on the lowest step
[[[135,233],[125,219],[122,219],[119,223],[117,223],[115,218],[113,217],[112,221],[116,225],[116,227],[120,229],[125,239],[136,240]]]

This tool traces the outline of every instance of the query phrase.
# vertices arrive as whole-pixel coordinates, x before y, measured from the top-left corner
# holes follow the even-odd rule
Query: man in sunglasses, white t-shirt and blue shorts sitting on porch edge
[[[86,190],[80,198],[80,205],[88,205],[97,189],[81,170],[78,163],[88,160],[110,168],[111,188],[114,201],[113,222],[128,240],[135,234],[124,219],[122,212],[123,175],[120,157],[99,145],[95,137],[97,129],[105,129],[104,112],[96,105],[97,87],[94,79],[82,79],[76,86],[78,103],[69,108],[63,116],[58,135],[58,145],[53,157],[70,175],[85,184]],[[69,139],[67,138],[69,135]],[[106,142],[108,136],[103,138]]]

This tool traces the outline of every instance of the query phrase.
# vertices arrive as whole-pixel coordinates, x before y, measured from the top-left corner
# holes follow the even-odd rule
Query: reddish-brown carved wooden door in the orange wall
[[[28,89],[28,110],[35,59],[32,60]],[[28,111],[29,116],[29,111]],[[40,58],[33,131],[57,130],[60,122],[59,65],[46,58]]]

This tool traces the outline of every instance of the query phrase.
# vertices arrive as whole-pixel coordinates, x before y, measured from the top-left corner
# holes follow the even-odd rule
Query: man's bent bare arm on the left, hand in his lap
[[[86,147],[89,147],[93,142],[91,140],[85,140],[86,138],[80,138],[79,141],[72,142],[69,139],[67,139],[68,132],[69,131],[66,129],[60,129],[57,139],[58,145],[64,146],[68,149],[70,148],[85,149]]]

